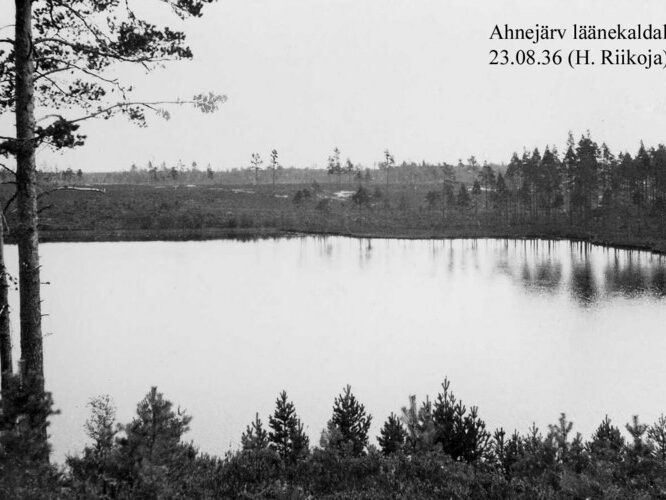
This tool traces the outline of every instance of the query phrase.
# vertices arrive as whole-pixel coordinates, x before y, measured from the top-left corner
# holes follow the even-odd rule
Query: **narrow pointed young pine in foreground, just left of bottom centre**
[[[309,439],[296,416],[294,403],[287,400],[286,391],[276,399],[275,412],[268,418],[268,425],[271,428],[268,434],[270,447],[284,460],[295,462],[307,454]]]

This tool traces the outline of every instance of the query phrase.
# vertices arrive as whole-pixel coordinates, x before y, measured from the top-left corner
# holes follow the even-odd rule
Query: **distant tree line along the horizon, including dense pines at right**
[[[274,153],[276,153],[274,151]],[[277,156],[277,153],[276,153]],[[283,168],[275,161],[262,167],[258,154],[252,165],[229,171],[201,168],[196,162],[187,167],[182,161],[169,166],[151,162],[132,165],[128,171],[84,173],[67,169],[41,171],[46,183],[82,184],[338,184],[348,188],[377,184],[441,184],[427,193],[430,208],[437,205],[494,210],[505,217],[549,218],[557,213],[589,218],[596,209],[630,210],[637,215],[661,213],[666,208],[666,146],[646,148],[641,142],[637,153],[614,154],[599,145],[589,132],[576,142],[570,133],[564,154],[555,147],[541,152],[535,148],[514,153],[508,164],[479,164],[474,156],[465,163],[395,164],[385,153],[377,167],[364,168],[347,160],[341,164],[337,148],[327,168]]]

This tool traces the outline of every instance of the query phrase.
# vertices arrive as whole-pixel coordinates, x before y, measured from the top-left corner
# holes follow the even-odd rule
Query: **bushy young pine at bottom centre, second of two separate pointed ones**
[[[335,398],[333,416],[329,424],[329,446],[353,456],[360,456],[368,445],[368,431],[372,415],[359,403],[347,385]]]

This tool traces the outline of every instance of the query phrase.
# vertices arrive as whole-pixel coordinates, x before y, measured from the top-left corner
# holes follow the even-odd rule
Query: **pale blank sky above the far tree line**
[[[613,150],[664,142],[663,69],[491,66],[492,49],[661,50],[666,42],[490,40],[496,24],[659,25],[660,0],[220,0],[182,24],[158,0],[134,0],[146,17],[182,27],[195,57],[145,74],[119,68],[137,97],[226,94],[213,115],[172,110],[142,129],[122,118],[87,123],[86,146],[40,151],[41,167],[127,170],[148,161],[215,170],[278,150],[284,166],[324,167],[334,147],[372,166],[389,149],[398,163],[508,162],[523,147],[563,147],[590,130]],[[10,2],[0,25],[11,22]],[[72,116],[80,113],[72,111]],[[0,117],[0,135],[11,131]]]

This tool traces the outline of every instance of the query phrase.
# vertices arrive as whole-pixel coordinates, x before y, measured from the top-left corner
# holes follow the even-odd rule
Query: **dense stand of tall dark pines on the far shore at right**
[[[473,192],[510,219],[549,220],[567,214],[571,221],[593,217],[612,222],[618,211],[638,216],[661,215],[666,208],[666,146],[615,156],[589,133],[567,149],[546,147],[514,154],[504,175],[483,168]]]

